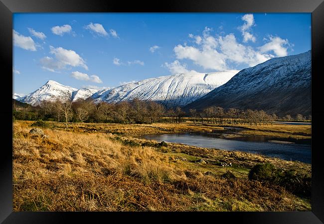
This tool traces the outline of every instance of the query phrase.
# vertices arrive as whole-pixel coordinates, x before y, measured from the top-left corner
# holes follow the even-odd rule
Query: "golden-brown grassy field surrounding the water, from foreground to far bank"
[[[259,163],[311,175],[309,164],[139,138],[222,127],[49,122],[42,138],[31,124],[13,123],[14,211],[311,211],[310,197],[248,179]],[[248,131],[310,137],[300,126]]]

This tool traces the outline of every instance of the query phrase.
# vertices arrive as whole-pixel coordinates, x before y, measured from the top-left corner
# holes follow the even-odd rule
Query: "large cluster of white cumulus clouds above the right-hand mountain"
[[[243,16],[244,17],[244,16]],[[251,27],[254,23],[253,16],[245,17],[246,23],[243,29]],[[189,34],[189,38],[194,41],[191,45],[178,44],[173,48],[173,52],[177,59],[189,59],[194,64],[204,69],[226,70],[232,69],[233,65],[255,66],[268,59],[278,56],[288,55],[287,49],[292,46],[288,39],[270,36],[265,38],[265,43],[259,47],[252,47],[243,43],[239,43],[233,33],[227,35],[211,35],[211,29],[205,27],[202,35]],[[200,38],[198,38],[200,37]],[[173,64],[165,64],[170,71],[185,71],[178,61]],[[174,69],[173,69],[174,67]]]

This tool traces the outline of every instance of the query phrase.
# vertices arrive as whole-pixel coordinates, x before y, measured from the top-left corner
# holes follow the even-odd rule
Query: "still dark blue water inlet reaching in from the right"
[[[284,160],[311,163],[311,141],[268,136],[239,136],[242,128],[225,128],[211,133],[194,132],[144,136],[145,139],[182,143],[204,148],[243,151]],[[234,136],[234,137],[233,137]]]

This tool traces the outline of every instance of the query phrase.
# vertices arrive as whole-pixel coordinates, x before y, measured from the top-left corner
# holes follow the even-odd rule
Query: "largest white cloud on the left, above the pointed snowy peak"
[[[50,53],[53,54],[55,58],[46,56],[40,59],[40,63],[44,69],[56,71],[58,69],[65,69],[67,66],[80,66],[88,70],[88,66],[85,64],[84,59],[74,50],[50,46]]]

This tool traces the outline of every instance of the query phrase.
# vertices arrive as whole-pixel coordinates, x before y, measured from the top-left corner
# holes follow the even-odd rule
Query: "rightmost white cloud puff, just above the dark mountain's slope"
[[[288,39],[282,39],[278,36],[270,36],[269,40],[270,42],[259,48],[262,53],[273,51],[278,57],[287,56],[287,48],[290,46]]]

